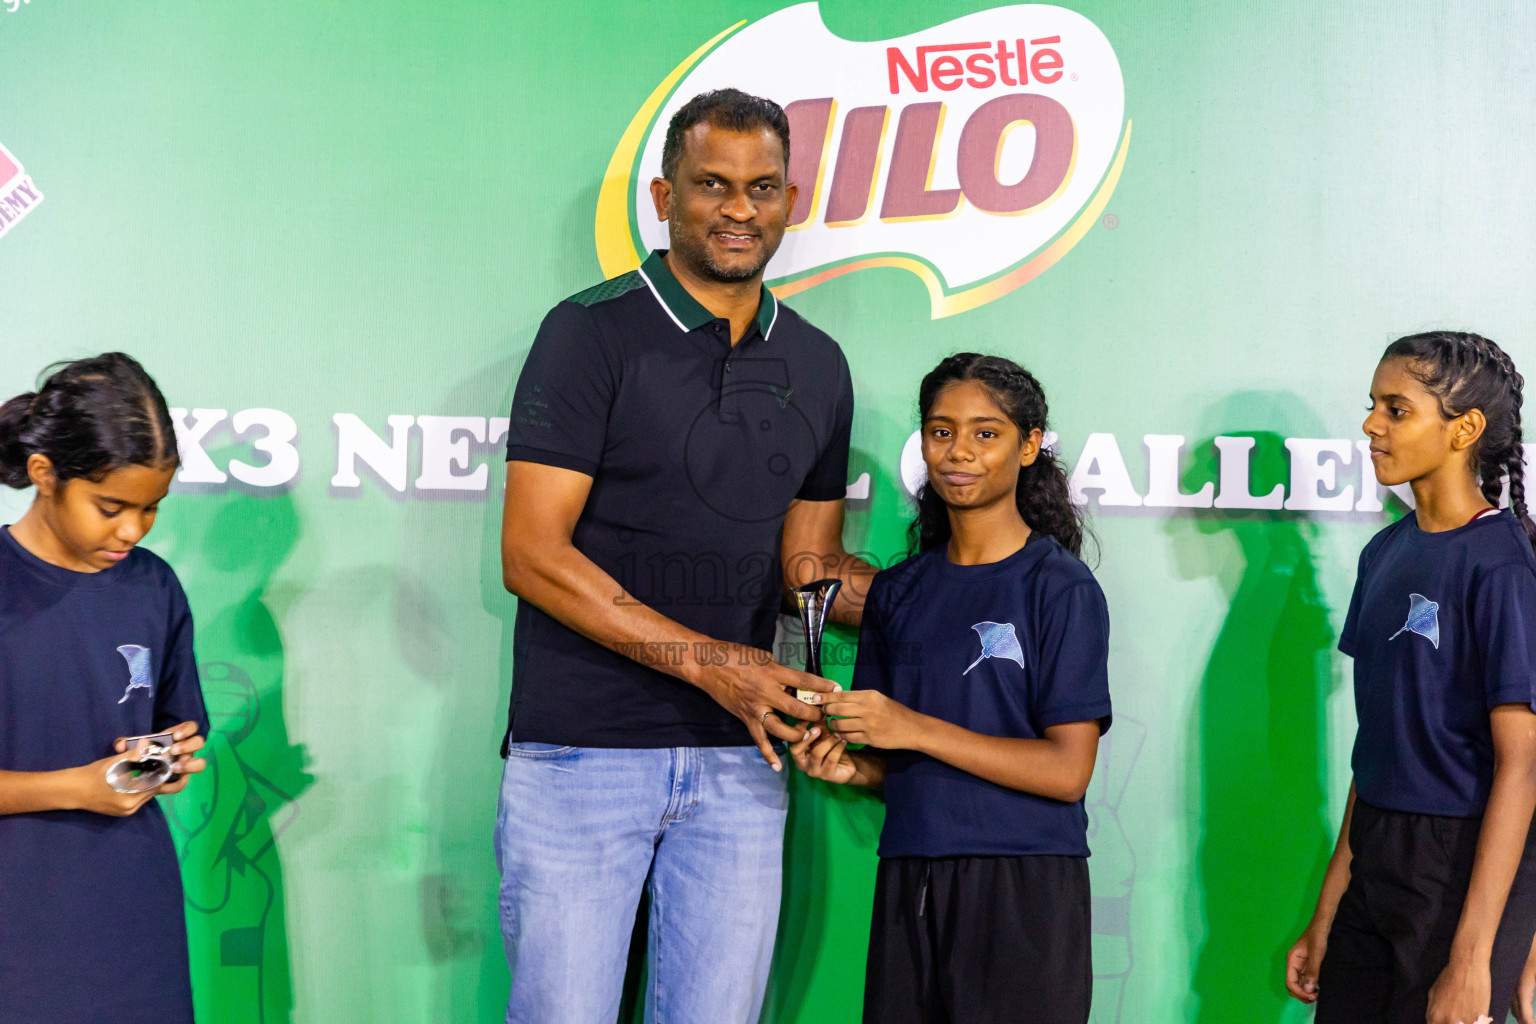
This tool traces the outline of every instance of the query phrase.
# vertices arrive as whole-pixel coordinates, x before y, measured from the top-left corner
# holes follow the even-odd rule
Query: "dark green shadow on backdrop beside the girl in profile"
[[[1215,434],[1253,436],[1250,493],[1289,479],[1287,434],[1322,436],[1286,393],[1240,393],[1209,410],[1186,491],[1220,479]],[[1197,900],[1204,940],[1192,990],[1200,1024],[1278,1021],[1284,955],[1316,898],[1327,820],[1326,703],[1336,636],[1318,586],[1316,525],[1283,510],[1190,510],[1167,533],[1183,579],[1213,579],[1229,609],[1200,683]]]

